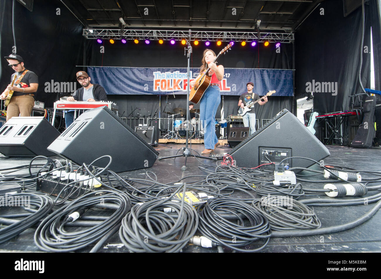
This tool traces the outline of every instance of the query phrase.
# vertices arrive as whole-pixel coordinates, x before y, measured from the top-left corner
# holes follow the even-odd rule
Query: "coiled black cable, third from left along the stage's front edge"
[[[123,244],[131,252],[179,252],[199,224],[194,207],[184,201],[185,192],[184,184],[181,203],[170,200],[173,194],[133,206],[119,229]],[[177,212],[177,218],[164,210]]]

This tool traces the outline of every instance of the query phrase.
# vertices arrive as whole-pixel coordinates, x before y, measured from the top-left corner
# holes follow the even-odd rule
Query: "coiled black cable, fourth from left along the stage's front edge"
[[[269,242],[271,230],[267,218],[246,203],[233,199],[209,199],[206,203],[197,205],[196,210],[200,217],[199,231],[217,245],[240,252],[258,252]],[[223,218],[216,210],[234,214],[238,224]],[[259,248],[241,248],[259,239],[265,240]]]

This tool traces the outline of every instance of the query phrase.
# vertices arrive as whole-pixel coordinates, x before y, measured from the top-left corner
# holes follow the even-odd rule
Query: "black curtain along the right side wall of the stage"
[[[322,9],[324,15],[321,15]],[[296,32],[296,98],[306,95],[307,82],[337,82],[334,92],[315,92],[314,109],[320,114],[348,110],[349,95],[362,93],[359,84],[361,48],[361,7],[343,16],[341,0],[324,1]],[[370,13],[365,5],[365,32],[362,52],[362,84],[370,87]]]

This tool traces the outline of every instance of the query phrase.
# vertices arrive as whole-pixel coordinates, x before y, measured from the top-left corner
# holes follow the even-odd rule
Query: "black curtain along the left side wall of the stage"
[[[12,3],[11,0],[0,1],[1,92],[10,83],[13,73],[4,58],[12,53],[13,47]],[[59,93],[48,92],[51,80],[60,84],[76,83],[75,73],[80,69],[75,65],[83,64],[82,24],[59,0],[35,0],[32,12],[15,1],[14,16],[17,54],[24,58],[25,67],[38,76],[36,100],[45,102],[45,107],[52,107]]]

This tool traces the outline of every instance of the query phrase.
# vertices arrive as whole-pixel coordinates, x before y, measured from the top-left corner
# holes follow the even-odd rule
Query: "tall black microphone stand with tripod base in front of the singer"
[[[188,108],[188,112],[187,112],[187,123],[191,123],[190,120],[189,120],[189,88],[191,87],[191,85],[189,84],[189,77],[190,77],[190,74],[191,74],[191,69],[190,69],[190,63],[189,63],[189,60],[191,58],[191,53],[192,53],[192,46],[191,46],[191,29],[189,29],[189,32],[188,32],[188,41],[187,41],[187,48],[185,49],[187,50],[187,60],[188,60],[188,68],[187,68],[187,76],[188,76],[188,83],[187,83],[187,108]],[[179,154],[179,155],[174,155],[174,156],[167,156],[167,157],[159,157],[159,161],[162,160],[162,159],[167,159],[167,158],[177,158],[177,157],[185,157],[185,161],[184,161],[184,166],[181,167],[181,170],[182,171],[185,171],[187,169],[186,167],[186,164],[187,164],[187,158],[188,157],[195,157],[195,158],[203,158],[203,159],[209,159],[209,160],[212,160],[212,161],[217,161],[217,158],[214,158],[214,157],[205,157],[205,156],[200,156],[200,155],[195,155],[195,154],[191,154],[191,151],[188,147],[188,140],[189,140],[189,132],[188,130],[191,128],[190,127],[191,125],[189,125],[189,127],[186,127],[185,125],[185,131],[186,131],[186,142],[185,142],[185,147],[182,148],[182,154]]]

